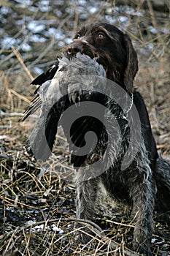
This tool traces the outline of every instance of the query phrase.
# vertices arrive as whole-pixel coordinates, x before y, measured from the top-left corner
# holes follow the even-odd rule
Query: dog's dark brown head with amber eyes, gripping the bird
[[[92,23],[83,26],[66,46],[66,56],[84,53],[96,58],[114,80],[129,92],[134,90],[133,80],[138,70],[136,51],[127,34],[107,23]]]

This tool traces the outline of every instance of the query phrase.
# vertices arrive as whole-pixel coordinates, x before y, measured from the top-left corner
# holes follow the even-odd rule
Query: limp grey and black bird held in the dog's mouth
[[[41,109],[39,120],[29,138],[29,146],[36,159],[45,161],[50,157],[55,143],[58,121],[66,109],[74,104],[77,104],[78,108],[78,103],[84,101],[104,104],[105,95],[98,93],[98,88],[105,87],[106,80],[104,78],[106,78],[106,72],[104,67],[98,64],[96,58],[91,59],[87,55],[77,53],[72,59],[65,56],[58,59],[50,69],[47,69],[47,72],[31,82],[39,87],[35,91],[36,97],[24,113],[23,121],[37,109]],[[69,125],[68,120],[65,129],[63,127],[68,140],[72,140],[75,146],[81,148],[86,143],[85,134],[93,130],[99,141],[104,128],[101,121],[94,120],[91,116],[81,116],[81,113],[79,113],[79,117],[70,127],[70,134],[66,132],[66,126]],[[93,144],[93,141],[91,143]],[[75,167],[80,167],[86,157],[87,154],[77,157],[73,152],[72,164]]]

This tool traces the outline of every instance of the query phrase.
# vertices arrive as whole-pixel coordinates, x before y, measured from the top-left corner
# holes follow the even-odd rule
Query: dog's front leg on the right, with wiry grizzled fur
[[[144,255],[152,255],[150,251],[150,240],[152,237],[152,214],[155,205],[155,181],[147,179],[142,184],[131,187],[131,198],[133,200],[133,213],[136,216],[134,228],[134,249]]]

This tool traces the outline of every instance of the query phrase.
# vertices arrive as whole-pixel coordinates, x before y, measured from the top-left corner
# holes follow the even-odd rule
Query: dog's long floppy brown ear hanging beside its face
[[[128,34],[124,34],[123,42],[126,53],[126,64],[123,82],[125,88],[132,93],[134,91],[134,77],[138,71],[138,59]]]

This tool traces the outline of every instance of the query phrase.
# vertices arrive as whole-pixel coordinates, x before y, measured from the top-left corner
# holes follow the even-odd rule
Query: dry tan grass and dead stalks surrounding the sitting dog
[[[33,2],[38,6],[40,1]],[[17,15],[5,17],[6,32],[20,40],[12,47],[5,45],[0,59],[0,254],[134,255],[126,248],[131,248],[131,219],[118,210],[113,212],[112,218],[98,216],[96,223],[82,222],[82,227],[85,226],[82,232],[92,229],[96,237],[89,244],[75,246],[74,184],[63,181],[57,172],[45,169],[45,165],[35,162],[26,153],[29,122],[20,120],[34,93],[34,88],[29,86],[37,74],[34,67],[45,70],[52,64],[61,52],[61,41],[66,44],[66,39],[85,20],[110,20],[111,23],[115,20],[115,25],[127,30],[134,40],[139,55],[136,88],[147,104],[158,150],[170,159],[169,12],[155,12],[150,1],[146,10],[139,5],[133,12],[125,6],[115,8],[116,1],[89,1],[83,8],[81,4],[71,6],[67,1],[59,2],[63,4],[50,1],[47,12],[42,12],[40,7],[35,12],[13,4],[10,8]],[[2,7],[3,4],[4,1]],[[89,11],[90,6],[95,7],[93,13]],[[16,22],[27,16],[37,20],[35,26],[41,20],[53,20],[45,25],[46,29],[55,27],[62,31],[62,38],[46,36],[45,42],[30,41],[34,34],[40,37],[40,32],[28,32],[27,23],[20,26]],[[30,43],[31,50],[24,51],[24,43]],[[58,170],[67,168],[68,154],[60,146],[55,148],[55,154]],[[158,217],[155,213],[153,255],[169,255],[169,235],[169,214]]]

